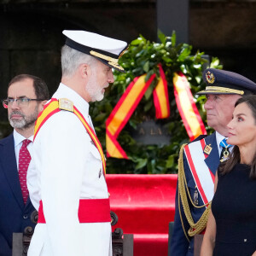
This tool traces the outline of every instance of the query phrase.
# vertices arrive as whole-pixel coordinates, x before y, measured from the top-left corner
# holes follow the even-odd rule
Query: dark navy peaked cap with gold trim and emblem
[[[207,83],[206,90],[196,94],[256,94],[256,84],[238,73],[207,68],[202,77]]]

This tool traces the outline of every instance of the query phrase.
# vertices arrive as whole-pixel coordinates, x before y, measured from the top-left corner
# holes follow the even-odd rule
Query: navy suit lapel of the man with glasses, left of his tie
[[[15,142],[13,134],[2,140],[0,143],[0,161],[3,164],[3,172],[6,180],[12,189],[15,199],[21,209],[24,208],[24,202],[20,189],[19,174],[15,158]]]

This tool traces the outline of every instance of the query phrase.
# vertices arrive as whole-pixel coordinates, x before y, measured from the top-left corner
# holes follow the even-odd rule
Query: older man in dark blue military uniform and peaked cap
[[[203,73],[206,90],[207,124],[215,132],[183,145],[179,157],[178,183],[171,255],[194,255],[194,236],[203,234],[214,191],[214,177],[220,161],[232,146],[225,142],[227,124],[232,119],[235,102],[248,94],[256,94],[253,81],[224,70],[208,68]],[[188,192],[189,191],[189,192]]]

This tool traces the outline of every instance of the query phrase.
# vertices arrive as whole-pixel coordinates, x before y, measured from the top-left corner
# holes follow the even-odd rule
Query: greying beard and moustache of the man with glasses
[[[13,114],[20,114],[22,119],[12,119]],[[32,125],[35,125],[36,120],[38,119],[38,107],[35,108],[35,111],[29,115],[26,116],[23,113],[20,113],[20,111],[13,111],[12,113],[9,114],[9,124],[16,129],[21,129],[21,130],[26,130]]]

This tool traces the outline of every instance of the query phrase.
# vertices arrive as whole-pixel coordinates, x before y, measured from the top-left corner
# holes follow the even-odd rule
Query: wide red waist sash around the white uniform
[[[80,199],[79,223],[110,222],[109,198],[104,199]],[[39,202],[38,223],[45,224],[42,201]]]

